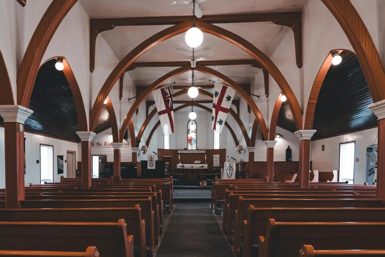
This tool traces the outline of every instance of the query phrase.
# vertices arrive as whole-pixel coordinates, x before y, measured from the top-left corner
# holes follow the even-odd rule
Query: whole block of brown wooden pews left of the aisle
[[[92,179],[90,189],[68,178],[26,187],[20,209],[0,209],[0,249],[88,256],[95,248],[82,251],[93,246],[102,257],[152,257],[163,234],[164,200],[173,209],[172,177],[119,180]]]

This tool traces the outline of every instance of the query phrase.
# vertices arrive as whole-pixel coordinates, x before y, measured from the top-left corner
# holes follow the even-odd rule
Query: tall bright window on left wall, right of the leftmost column
[[[54,182],[54,146],[40,144],[40,184]]]

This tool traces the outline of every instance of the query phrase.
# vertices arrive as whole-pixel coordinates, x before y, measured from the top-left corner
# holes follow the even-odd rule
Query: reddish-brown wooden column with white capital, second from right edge
[[[309,188],[310,139],[317,130],[298,130],[294,134],[299,139],[299,187]]]

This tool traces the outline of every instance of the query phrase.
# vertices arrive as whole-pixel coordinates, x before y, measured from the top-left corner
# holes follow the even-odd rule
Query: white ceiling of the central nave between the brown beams
[[[79,0],[91,18],[150,17],[192,15],[187,4],[171,5],[172,0]],[[300,11],[308,0],[207,0],[201,3],[204,15],[256,13],[276,11]],[[267,56],[271,56],[289,28],[272,23],[218,24],[243,37]],[[153,34],[171,26],[127,26],[103,31],[105,38],[116,57],[121,60],[136,46]],[[289,31],[291,32],[291,31]],[[184,40],[185,33],[174,36],[154,47],[136,61],[182,61],[192,58],[192,48]],[[204,33],[202,45],[195,48],[195,58],[207,60],[250,59],[243,50],[216,36]],[[96,55],[97,55],[96,49]],[[129,71],[137,86],[148,86],[155,80],[177,67],[148,67]],[[230,77],[238,84],[250,84],[259,69],[249,65],[211,67]],[[195,72],[195,84],[210,84],[212,76]],[[217,80],[216,80],[217,81]],[[191,85],[191,71],[178,75],[165,84]],[[179,98],[183,99],[185,96]],[[150,100],[150,98],[148,98]]]

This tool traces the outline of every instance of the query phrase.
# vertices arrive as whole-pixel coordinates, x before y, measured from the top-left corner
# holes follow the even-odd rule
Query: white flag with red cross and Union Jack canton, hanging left
[[[174,133],[173,86],[165,86],[152,92],[160,125],[165,136]]]

